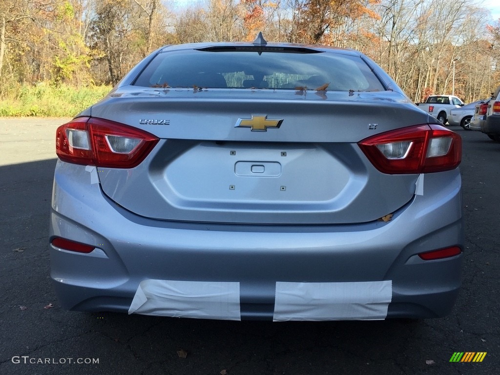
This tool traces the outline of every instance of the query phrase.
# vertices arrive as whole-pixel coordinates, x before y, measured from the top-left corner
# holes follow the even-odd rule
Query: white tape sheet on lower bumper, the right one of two
[[[273,321],[387,317],[392,281],[276,282]]]

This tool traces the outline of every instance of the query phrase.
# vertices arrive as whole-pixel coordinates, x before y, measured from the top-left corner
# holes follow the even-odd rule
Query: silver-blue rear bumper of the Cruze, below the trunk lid
[[[339,292],[344,303],[355,290],[349,283],[361,282],[390,283],[386,317],[444,316],[459,290],[462,255],[424,261],[416,254],[454,245],[463,248],[460,175],[456,169],[424,177],[423,194],[415,195],[389,222],[225,225],[134,215],[109,201],[85,166],[59,161],[50,239],[61,236],[96,249],[80,254],[50,245],[51,278],[62,307],[84,311],[127,312],[141,281],[177,280],[189,287],[202,282],[232,288],[237,283],[240,318],[273,319],[281,298],[279,283],[297,283],[312,294],[319,283],[347,285]],[[379,297],[376,292],[372,296]],[[161,311],[157,314],[203,317]],[[221,314],[209,317],[228,318]],[[372,316],[311,314],[304,319]]]

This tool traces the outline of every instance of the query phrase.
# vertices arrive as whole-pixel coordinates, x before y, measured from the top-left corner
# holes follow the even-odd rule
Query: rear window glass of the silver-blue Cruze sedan
[[[341,53],[182,50],[158,54],[135,80],[145,87],[326,88],[381,91],[357,56]]]

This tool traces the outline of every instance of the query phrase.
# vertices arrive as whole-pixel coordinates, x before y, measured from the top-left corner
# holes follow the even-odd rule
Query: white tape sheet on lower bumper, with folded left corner
[[[144,280],[128,313],[241,320],[239,282]]]

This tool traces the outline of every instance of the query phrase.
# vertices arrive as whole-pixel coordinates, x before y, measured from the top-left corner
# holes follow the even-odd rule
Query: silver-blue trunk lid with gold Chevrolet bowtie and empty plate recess
[[[394,212],[418,175],[379,172],[357,142],[427,122],[395,92],[135,87],[91,115],[160,138],[135,168],[98,168],[117,204],[156,219],[254,224],[359,223]]]

